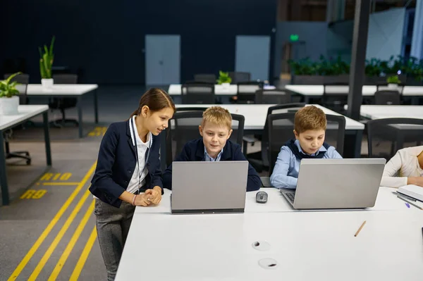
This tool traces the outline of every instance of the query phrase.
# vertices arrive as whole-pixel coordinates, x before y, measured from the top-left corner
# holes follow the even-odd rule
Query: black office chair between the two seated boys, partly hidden
[[[295,113],[298,109],[304,107],[305,104],[298,103],[298,104],[278,104],[277,106],[270,106],[267,109],[266,116],[271,114],[278,114],[278,113],[288,113],[292,112]],[[290,132],[292,132],[293,127],[291,127]],[[291,134],[292,135],[292,134]],[[257,170],[257,172],[261,173],[262,170],[266,170],[269,168],[269,123],[266,121],[264,123],[263,133],[261,136],[249,137],[244,136],[243,138],[244,144],[244,154],[247,157],[247,160],[250,164]],[[262,149],[261,151],[257,151],[252,154],[247,154],[247,144],[254,144],[255,142],[261,141],[262,142]]]

